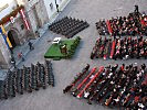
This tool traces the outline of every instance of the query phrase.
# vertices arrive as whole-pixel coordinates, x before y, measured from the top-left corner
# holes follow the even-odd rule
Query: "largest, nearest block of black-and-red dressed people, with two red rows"
[[[147,109],[147,68],[123,64],[94,67],[88,72],[87,65],[82,73],[63,90],[74,97],[87,99],[87,103],[101,103],[103,106],[127,110]]]

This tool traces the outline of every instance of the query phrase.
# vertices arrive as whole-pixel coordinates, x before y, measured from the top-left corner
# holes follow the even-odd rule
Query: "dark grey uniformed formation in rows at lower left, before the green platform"
[[[45,89],[48,85],[54,87],[52,64],[50,61],[44,65],[38,62],[36,65],[31,64],[31,67],[9,70],[6,80],[0,82],[0,99],[15,97],[17,94],[23,95],[24,91],[32,92],[40,87]]]

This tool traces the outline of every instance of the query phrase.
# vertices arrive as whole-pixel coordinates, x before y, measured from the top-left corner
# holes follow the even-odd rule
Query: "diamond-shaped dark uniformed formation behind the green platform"
[[[49,30],[70,38],[88,26],[86,21],[65,16],[49,25]]]

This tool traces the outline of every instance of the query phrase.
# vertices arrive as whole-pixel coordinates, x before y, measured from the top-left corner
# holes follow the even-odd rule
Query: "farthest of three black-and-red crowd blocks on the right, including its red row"
[[[147,15],[133,12],[128,16],[103,19],[96,22],[96,29],[99,35],[147,35]]]

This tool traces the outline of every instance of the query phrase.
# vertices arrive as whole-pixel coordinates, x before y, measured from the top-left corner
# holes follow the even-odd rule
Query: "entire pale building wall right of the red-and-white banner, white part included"
[[[33,32],[50,23],[56,15],[56,3],[61,10],[70,0],[22,0]]]

